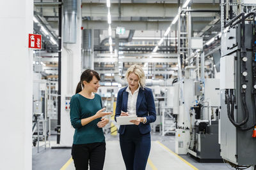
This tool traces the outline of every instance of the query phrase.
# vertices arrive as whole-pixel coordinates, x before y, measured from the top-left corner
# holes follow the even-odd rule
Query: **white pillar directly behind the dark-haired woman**
[[[61,52],[61,134],[60,145],[72,146],[74,129],[70,123],[69,110],[65,110],[65,97],[76,92],[81,76],[81,1],[77,1],[77,42],[64,44]]]

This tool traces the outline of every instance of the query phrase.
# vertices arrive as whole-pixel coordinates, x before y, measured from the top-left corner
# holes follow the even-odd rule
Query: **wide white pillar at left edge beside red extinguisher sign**
[[[33,0],[0,1],[0,166],[32,169]]]

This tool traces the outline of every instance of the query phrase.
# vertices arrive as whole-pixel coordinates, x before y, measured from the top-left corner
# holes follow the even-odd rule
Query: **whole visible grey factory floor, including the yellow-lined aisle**
[[[52,140],[54,138],[52,137]],[[52,141],[52,145],[56,143]],[[175,136],[159,136],[158,133],[152,134],[152,146],[147,163],[147,170],[225,170],[232,169],[223,163],[199,163],[189,157],[189,155],[176,155]],[[40,147],[33,148],[33,170],[74,170],[74,162],[72,162],[70,149],[50,149],[44,150]],[[182,160],[183,159],[183,160]],[[184,161],[185,160],[185,161]],[[120,152],[118,136],[106,135],[106,159],[104,170],[125,170],[124,160]]]

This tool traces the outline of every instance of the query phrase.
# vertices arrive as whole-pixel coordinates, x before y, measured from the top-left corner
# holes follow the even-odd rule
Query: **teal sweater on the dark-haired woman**
[[[74,144],[105,142],[102,128],[97,127],[100,118],[84,126],[81,124],[81,119],[92,117],[100,109],[102,109],[102,102],[99,94],[95,94],[94,99],[87,99],[80,94],[72,96],[70,101],[70,121],[74,129],[76,129],[73,139]]]

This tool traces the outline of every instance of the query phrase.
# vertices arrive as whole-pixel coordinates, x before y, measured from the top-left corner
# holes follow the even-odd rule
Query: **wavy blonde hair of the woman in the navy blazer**
[[[131,67],[129,67],[129,69],[127,69],[126,73],[125,73],[125,78],[126,80],[128,79],[129,74],[134,73],[138,76],[139,78],[139,86],[144,89],[144,87],[146,87],[146,78],[145,78],[145,73],[142,69],[141,66],[134,64]]]

